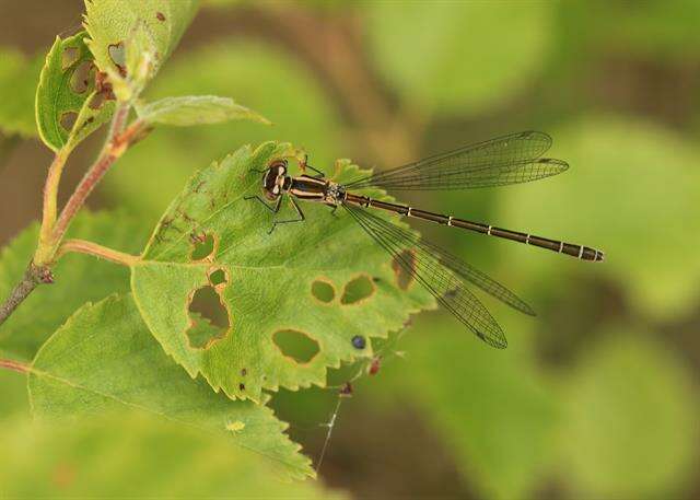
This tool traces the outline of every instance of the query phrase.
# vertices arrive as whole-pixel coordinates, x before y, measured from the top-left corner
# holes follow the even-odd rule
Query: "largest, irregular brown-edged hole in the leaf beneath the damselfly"
[[[211,286],[195,292],[189,303],[189,317],[192,322],[187,330],[189,345],[199,349],[207,349],[214,341],[224,338],[231,325],[229,311]]]

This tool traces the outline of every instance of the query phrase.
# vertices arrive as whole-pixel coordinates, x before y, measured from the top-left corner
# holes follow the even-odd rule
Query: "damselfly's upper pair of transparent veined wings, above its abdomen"
[[[346,185],[386,189],[465,189],[527,183],[564,172],[561,160],[541,158],[551,146],[544,132],[511,133],[419,162],[378,172]]]

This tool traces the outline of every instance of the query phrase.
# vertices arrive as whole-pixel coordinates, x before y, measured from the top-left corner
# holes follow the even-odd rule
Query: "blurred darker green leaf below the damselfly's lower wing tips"
[[[559,405],[527,349],[536,321],[486,303],[502,312],[506,350],[482,345],[444,312],[425,314],[386,356],[404,354],[363,389],[396,411],[416,405],[477,498],[535,498],[553,458]]]

